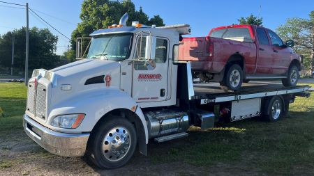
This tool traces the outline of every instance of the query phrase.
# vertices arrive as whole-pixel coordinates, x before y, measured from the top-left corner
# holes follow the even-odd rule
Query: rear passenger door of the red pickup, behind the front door
[[[267,33],[262,28],[256,30],[257,45],[257,61],[255,74],[271,74],[271,65],[273,64],[273,47],[270,45]]]

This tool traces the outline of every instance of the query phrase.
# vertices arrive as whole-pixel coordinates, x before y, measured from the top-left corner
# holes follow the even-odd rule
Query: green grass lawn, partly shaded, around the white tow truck
[[[14,141],[15,134],[23,133],[22,115],[26,97],[24,83],[0,83],[0,107],[4,114],[3,117],[0,115],[0,143]],[[232,172],[239,168],[237,172],[234,171],[235,175],[250,175],[242,172],[314,175],[314,95],[308,99],[297,97],[290,104],[290,115],[278,122],[253,118],[204,131],[192,127],[188,133],[187,138],[149,144],[147,167],[162,163],[172,166],[172,163],[179,162],[204,170],[219,168]],[[31,139],[24,137],[31,143]],[[36,152],[38,155],[33,152],[26,154],[23,161],[12,156],[1,157],[1,153],[12,150],[11,147],[0,145],[0,170],[18,167],[17,163],[31,163],[28,157],[59,159],[43,150]],[[181,168],[178,174],[183,174],[183,171]]]

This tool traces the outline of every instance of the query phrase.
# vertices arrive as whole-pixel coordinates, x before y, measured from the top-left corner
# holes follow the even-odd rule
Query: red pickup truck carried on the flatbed
[[[301,56],[290,48],[294,42],[262,26],[222,26],[182,43],[179,61],[191,61],[194,78],[220,81],[225,90],[239,90],[251,79],[282,79],[284,86],[299,79]]]

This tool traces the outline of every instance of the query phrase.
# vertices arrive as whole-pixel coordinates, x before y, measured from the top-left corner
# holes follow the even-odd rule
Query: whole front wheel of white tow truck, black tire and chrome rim
[[[112,115],[96,129],[88,148],[89,158],[99,168],[119,168],[131,159],[136,145],[134,125]]]

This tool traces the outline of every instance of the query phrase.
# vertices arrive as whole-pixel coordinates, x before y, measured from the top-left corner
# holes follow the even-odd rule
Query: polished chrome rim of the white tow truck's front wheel
[[[110,129],[103,139],[103,155],[109,161],[119,161],[126,157],[132,142],[130,132],[125,127]]]

